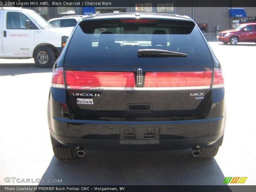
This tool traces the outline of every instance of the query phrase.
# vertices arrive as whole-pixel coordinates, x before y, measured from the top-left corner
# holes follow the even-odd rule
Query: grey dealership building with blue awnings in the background
[[[118,7],[30,7],[30,9],[40,13],[46,20],[93,12],[158,12],[187,15],[196,21],[205,36],[213,37],[218,32],[216,27],[227,30],[241,23],[256,22],[256,6],[246,7],[251,5],[250,1],[251,4],[255,4],[254,0],[248,0],[247,4],[238,0],[222,0],[217,6],[216,0],[112,0],[111,2],[114,5],[118,4]],[[79,0],[73,2],[79,2]]]

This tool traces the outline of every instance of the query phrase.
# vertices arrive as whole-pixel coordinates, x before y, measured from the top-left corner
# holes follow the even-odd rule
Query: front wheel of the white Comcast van
[[[34,60],[38,67],[52,67],[55,61],[55,55],[50,47],[42,46],[37,48],[34,54]]]

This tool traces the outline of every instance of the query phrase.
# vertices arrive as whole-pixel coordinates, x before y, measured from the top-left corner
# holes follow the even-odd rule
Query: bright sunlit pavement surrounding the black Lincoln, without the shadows
[[[225,177],[248,177],[245,184],[256,185],[256,44],[209,43],[222,65],[227,108],[224,141],[212,159],[194,158],[188,149],[86,151],[84,158],[58,160],[47,124],[52,69],[37,68],[33,59],[0,59],[0,185],[38,184],[6,177],[45,185],[221,185]]]

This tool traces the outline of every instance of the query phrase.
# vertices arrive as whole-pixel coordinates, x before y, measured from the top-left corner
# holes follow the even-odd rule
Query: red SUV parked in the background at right
[[[221,31],[217,39],[224,44],[229,42],[231,45],[236,45],[238,42],[256,43],[256,23],[244,23],[234,29]]]

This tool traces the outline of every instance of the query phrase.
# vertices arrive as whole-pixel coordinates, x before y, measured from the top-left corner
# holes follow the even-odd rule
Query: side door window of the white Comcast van
[[[28,29],[25,27],[25,20],[30,20],[26,15],[20,12],[7,12],[7,29]],[[31,22],[31,24],[33,24]]]

